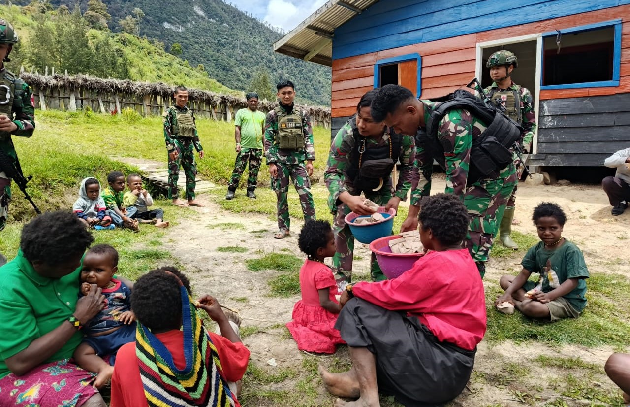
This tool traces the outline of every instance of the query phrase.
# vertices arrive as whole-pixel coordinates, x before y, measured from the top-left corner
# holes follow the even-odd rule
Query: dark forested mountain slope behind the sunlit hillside
[[[294,81],[299,102],[330,105],[330,69],[273,52],[272,44],[282,33],[230,4],[221,0],[103,1],[112,16],[110,29],[125,30],[125,23],[134,18],[137,22],[140,9],[140,36],[163,42],[173,54],[179,54],[181,45],[181,59],[190,66],[203,64],[210,78],[229,88],[247,91],[253,80],[260,83],[266,75],[272,87],[286,78]],[[60,4],[72,8],[76,0],[50,3],[55,8]],[[88,0],[80,4],[85,11]]]

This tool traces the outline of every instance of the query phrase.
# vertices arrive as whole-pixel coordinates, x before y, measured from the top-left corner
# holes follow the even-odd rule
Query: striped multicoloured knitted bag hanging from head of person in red
[[[217,348],[181,285],[181,310],[186,366],[177,369],[171,352],[149,329],[138,323],[135,354],[144,395],[151,407],[234,406],[224,379]]]

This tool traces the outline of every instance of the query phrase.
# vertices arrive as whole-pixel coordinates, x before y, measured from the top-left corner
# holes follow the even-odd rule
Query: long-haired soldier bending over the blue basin
[[[362,192],[365,198],[379,206],[398,210],[398,204],[407,198],[411,188],[413,171],[418,171],[413,165],[416,155],[413,137],[394,133],[393,129],[382,122],[372,120],[370,104],[378,91],[374,89],[365,93],[358,102],[357,114],[339,129],[330,147],[324,172],[326,187],[330,192],[328,208],[335,216],[333,232],[337,251],[333,257],[333,269],[340,290],[345,290],[345,286],[352,280],[354,252],[354,236],[345,223],[345,216],[351,211],[359,215],[373,213],[364,205],[364,198],[360,197]],[[372,182],[375,184],[380,179],[381,185],[373,187],[370,181],[363,182],[358,177],[359,165],[367,164],[369,160],[386,158],[390,158],[392,162],[389,170],[388,167],[382,168],[382,174],[374,174],[375,170],[369,170],[374,175]],[[392,195],[391,172],[398,160],[400,177]],[[401,231],[406,230],[408,229],[403,224]],[[374,281],[386,280],[374,253],[370,259],[370,274]]]

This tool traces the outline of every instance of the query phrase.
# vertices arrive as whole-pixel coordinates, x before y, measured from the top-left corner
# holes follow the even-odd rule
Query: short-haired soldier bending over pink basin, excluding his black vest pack
[[[425,130],[433,109],[438,105],[438,102],[416,99],[410,90],[402,86],[386,85],[372,102],[372,117],[383,120],[401,134],[416,134],[419,129]],[[513,163],[508,163],[491,177],[469,179],[473,139],[477,139],[485,129],[483,122],[468,110],[452,109],[437,125],[440,151],[435,146],[429,150],[429,146],[416,143],[416,165],[422,174],[411,186],[411,203],[418,202],[418,205],[410,206],[408,215],[408,220],[418,216],[422,198],[429,196],[433,160],[437,160],[444,165],[446,172],[445,192],[460,196],[471,215],[466,247],[482,277],[498,228],[497,220],[503,216],[517,181]]]

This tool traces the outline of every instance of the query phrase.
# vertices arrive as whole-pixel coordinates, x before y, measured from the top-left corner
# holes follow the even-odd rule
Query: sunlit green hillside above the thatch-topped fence
[[[209,77],[209,74],[203,71],[202,67],[190,66],[188,61],[183,61],[179,57],[173,56],[164,50],[164,44],[157,41],[150,41],[147,38],[138,38],[128,33],[113,33],[110,30],[96,30],[86,27],[85,37],[88,47],[96,54],[103,56],[106,52],[120,64],[120,69],[115,74],[103,74],[98,66],[90,67],[84,64],[86,61],[64,61],[63,57],[57,59],[43,55],[43,50],[60,49],[64,45],[69,47],[67,53],[72,53],[72,44],[66,44],[60,36],[47,35],[43,36],[42,26],[48,27],[49,30],[55,32],[54,24],[51,23],[60,19],[68,18],[72,20],[72,16],[60,16],[56,11],[33,15],[27,10],[18,6],[9,9],[8,6],[0,6],[0,15],[6,18],[14,25],[20,35],[20,44],[11,54],[11,62],[8,63],[9,69],[18,71],[20,65],[23,64],[27,71],[31,66],[39,73],[45,72],[45,66],[49,66],[49,73],[52,73],[52,67],[55,66],[57,72],[67,70],[69,74],[93,74],[96,76],[112,76],[118,79],[130,79],[134,81],[164,82],[169,85],[185,84],[190,88],[200,88],[214,91],[217,93],[241,93],[227,86],[222,85],[216,80]],[[74,28],[77,28],[76,25]],[[37,34],[40,35],[37,35]],[[41,42],[57,41],[50,47],[42,47]],[[71,41],[76,43],[76,37]],[[36,45],[37,44],[37,45]],[[77,46],[74,44],[74,46]],[[107,47],[108,50],[103,50]],[[34,52],[37,48],[40,51]],[[66,58],[67,59],[67,58]],[[84,56],[89,59],[89,54]],[[103,63],[96,58],[96,64]],[[66,64],[66,66],[64,66]],[[83,69],[81,69],[83,68]]]

